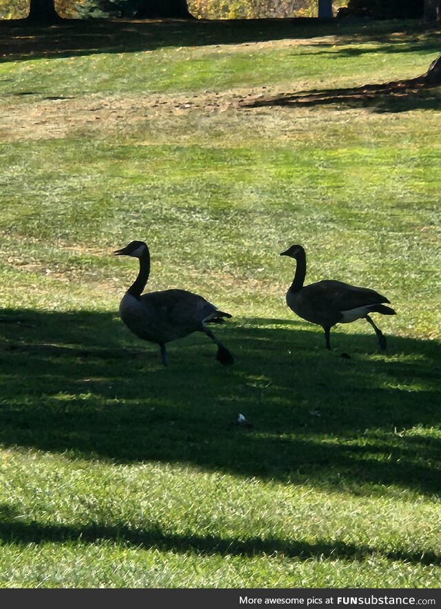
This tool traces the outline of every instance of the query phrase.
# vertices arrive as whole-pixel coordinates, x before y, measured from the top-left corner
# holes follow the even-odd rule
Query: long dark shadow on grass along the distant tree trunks
[[[131,21],[65,19],[52,26],[36,26],[26,21],[0,21],[3,51],[0,61],[20,61],[39,57],[72,57],[91,53],[135,52],[166,46],[204,46],[247,43],[277,39],[308,39],[326,35],[361,43],[372,39],[381,43],[400,42],[396,35],[415,41],[416,32],[427,34],[416,21],[319,21],[318,19],[234,19],[220,21],[150,20]],[[418,43],[422,45],[422,42]],[[430,43],[427,43],[430,46]],[[420,46],[418,47],[420,48]],[[435,48],[436,50],[436,48]]]

